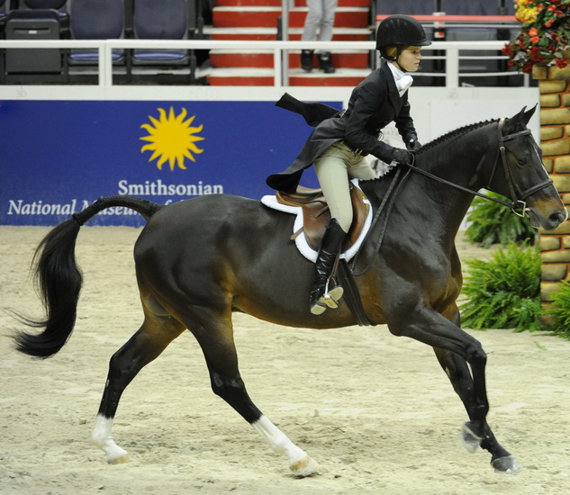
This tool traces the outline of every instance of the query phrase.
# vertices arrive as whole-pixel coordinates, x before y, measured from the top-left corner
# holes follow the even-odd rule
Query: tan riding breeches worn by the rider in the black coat
[[[329,204],[330,216],[337,219],[340,228],[348,232],[352,223],[348,179],[374,179],[375,171],[365,157],[356,155],[342,142],[325,149],[314,161],[314,169]]]

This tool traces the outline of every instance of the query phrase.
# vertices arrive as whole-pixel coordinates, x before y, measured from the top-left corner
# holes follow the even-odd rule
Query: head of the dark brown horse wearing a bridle
[[[488,189],[508,197],[517,209],[529,213],[536,228],[553,230],[568,212],[542,163],[542,151],[527,125],[536,106],[498,122],[498,144]]]

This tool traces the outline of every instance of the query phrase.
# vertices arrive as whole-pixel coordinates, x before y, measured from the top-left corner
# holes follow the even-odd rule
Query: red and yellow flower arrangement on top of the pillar
[[[570,0],[514,0],[516,18],[522,23],[519,36],[502,53],[507,64],[532,72],[535,64],[566,67],[570,49]]]

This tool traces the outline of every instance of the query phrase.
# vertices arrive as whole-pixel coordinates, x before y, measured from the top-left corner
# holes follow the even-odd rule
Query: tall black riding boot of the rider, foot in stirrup
[[[319,257],[315,265],[317,273],[311,290],[312,314],[322,314],[327,307],[332,309],[339,307],[338,302],[344,290],[330,278],[330,275],[345,236],[345,231],[340,228],[339,221],[337,219],[330,220],[329,227],[327,227],[322,238]]]

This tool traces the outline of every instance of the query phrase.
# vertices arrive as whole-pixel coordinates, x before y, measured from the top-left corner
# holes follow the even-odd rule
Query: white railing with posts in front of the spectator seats
[[[445,76],[445,86],[459,86],[460,76],[519,76],[517,72],[465,73],[459,71],[461,59],[506,59],[497,57],[461,56],[460,51],[497,51],[504,46],[504,41],[434,41],[430,47],[422,50],[426,59],[445,60],[445,73],[429,73],[423,76]],[[249,41],[249,40],[0,40],[0,49],[98,49],[98,85],[113,86],[113,49],[231,49],[231,50],[273,50],[273,68],[275,87],[288,85],[289,70],[287,53],[301,49],[375,50],[374,41]],[[432,55],[434,51],[443,55]],[[377,58],[375,58],[377,59]],[[285,67],[285,68],[284,68]],[[421,76],[419,73],[418,76]],[[529,78],[523,85],[529,85]]]

